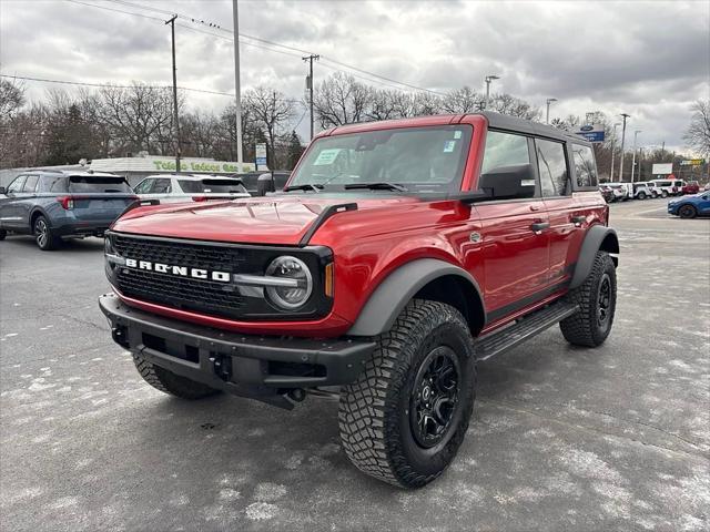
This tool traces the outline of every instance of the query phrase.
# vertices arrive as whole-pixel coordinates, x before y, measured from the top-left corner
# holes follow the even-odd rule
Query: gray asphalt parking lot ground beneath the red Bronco
[[[710,221],[611,206],[619,299],[599,349],[557,327],[479,366],[469,434],[419,491],[357,472],[332,400],[292,412],[144,383],[97,307],[102,242],[0,243],[0,528],[710,528]]]

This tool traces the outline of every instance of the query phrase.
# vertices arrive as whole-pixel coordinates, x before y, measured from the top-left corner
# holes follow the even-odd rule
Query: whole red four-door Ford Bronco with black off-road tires
[[[608,217],[591,145],[559,130],[494,113],[345,125],[282,192],[126,212],[100,306],[159,390],[283,408],[338,393],[353,463],[420,487],[466,434],[477,360],[557,323],[605,341]]]

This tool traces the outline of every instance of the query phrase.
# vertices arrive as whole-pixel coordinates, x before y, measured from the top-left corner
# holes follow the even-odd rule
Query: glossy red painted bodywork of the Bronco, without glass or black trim
[[[346,125],[322,132],[317,137],[452,123],[473,127],[462,191],[474,191],[487,131],[484,116],[427,116]],[[304,157],[305,154],[301,162]],[[142,207],[121,217],[113,231],[293,246],[323,208],[353,202],[358,205],[356,211],[332,216],[310,241],[311,245],[327,246],[335,252],[333,308],[321,319],[245,323],[118,295],[128,305],[155,314],[244,334],[336,337],[347,332],[369,296],[392,272],[417,258],[439,258],[466,269],[476,279],[486,313],[495,316],[486,324],[484,331],[488,331],[559,297],[586,229],[606,224],[608,213],[598,191],[576,192],[564,198],[483,202],[473,206],[456,200],[424,201],[372,193],[353,198],[348,194],[304,193],[276,201],[272,196]],[[530,225],[538,222],[549,222],[550,228],[535,234]],[[474,238],[473,234],[480,238]],[[529,303],[519,305],[526,300]]]

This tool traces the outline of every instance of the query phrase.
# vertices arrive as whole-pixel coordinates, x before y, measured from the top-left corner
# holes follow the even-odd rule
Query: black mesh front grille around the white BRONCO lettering
[[[287,253],[304,260],[314,278],[314,295],[311,300],[296,311],[285,313],[272,306],[261,288],[243,289],[233,283],[161,273],[154,268],[108,266],[109,279],[126,297],[211,316],[254,320],[317,317],[327,313],[332,305],[332,300],[320,289],[323,265],[332,260],[327,248],[223,244],[126,236],[114,232],[109,232],[108,238],[113,252],[123,258],[131,258],[139,264],[144,260],[152,265],[187,268],[189,272],[200,268],[207,272],[264,275],[274,258]],[[172,272],[171,268],[169,270]]]

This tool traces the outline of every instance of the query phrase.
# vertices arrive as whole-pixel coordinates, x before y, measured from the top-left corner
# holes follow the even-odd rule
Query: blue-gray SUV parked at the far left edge
[[[138,197],[118,175],[30,171],[0,186],[0,241],[8,233],[33,235],[40,249],[62,238],[103,236]]]

